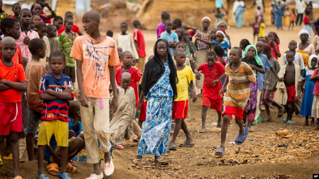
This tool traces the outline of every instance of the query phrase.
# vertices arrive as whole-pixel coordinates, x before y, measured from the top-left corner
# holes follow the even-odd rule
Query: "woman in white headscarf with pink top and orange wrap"
[[[310,44],[310,35],[309,32],[305,29],[300,30],[298,33],[298,38],[300,39],[300,43],[297,43],[296,51],[302,55],[303,62],[305,67],[308,66],[309,56],[315,54],[315,47]]]

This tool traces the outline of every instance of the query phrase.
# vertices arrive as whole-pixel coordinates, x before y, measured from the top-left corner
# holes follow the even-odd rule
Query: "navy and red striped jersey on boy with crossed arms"
[[[46,94],[47,89],[52,89],[57,92],[63,92],[66,88],[73,88],[71,78],[61,74],[61,78],[57,79],[53,73],[44,75],[41,78],[39,94]],[[70,92],[74,98],[74,92]],[[43,101],[43,110],[41,121],[61,120],[69,122],[69,101],[63,99],[54,99]]]

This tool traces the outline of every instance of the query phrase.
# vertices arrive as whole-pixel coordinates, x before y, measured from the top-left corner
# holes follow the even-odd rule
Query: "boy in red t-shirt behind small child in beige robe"
[[[141,72],[136,68],[131,66],[132,61],[133,61],[133,54],[129,51],[125,51],[122,53],[122,61],[123,61],[123,66],[119,67],[116,69],[115,72],[115,79],[116,79],[116,83],[119,86],[122,86],[121,84],[121,75],[124,72],[128,72],[129,74],[131,74],[131,84],[130,87],[132,87],[134,89],[135,92],[135,99],[136,99],[136,106],[138,104],[138,91],[137,91],[137,83],[139,82],[140,78],[141,78]]]

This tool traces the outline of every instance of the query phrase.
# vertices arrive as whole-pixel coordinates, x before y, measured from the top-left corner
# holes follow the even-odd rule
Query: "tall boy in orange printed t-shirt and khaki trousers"
[[[116,90],[114,66],[118,64],[118,54],[114,39],[101,35],[99,31],[100,15],[97,11],[88,11],[82,17],[83,28],[87,35],[75,39],[70,57],[77,60],[77,78],[81,119],[83,125],[87,163],[94,165],[94,171],[87,179],[102,179],[98,153],[104,152],[104,173],[114,172],[111,156],[109,131],[109,109],[117,110],[117,93],[109,104],[109,84]],[[94,55],[88,55],[94,54]],[[109,105],[111,105],[109,107]],[[92,125],[92,124],[95,125]]]

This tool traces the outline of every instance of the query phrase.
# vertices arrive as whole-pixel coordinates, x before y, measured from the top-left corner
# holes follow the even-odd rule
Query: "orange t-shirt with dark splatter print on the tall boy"
[[[116,66],[119,62],[114,39],[105,36],[104,39],[96,41],[89,35],[78,36],[73,43],[70,57],[82,61],[82,85],[85,94],[93,98],[110,98],[108,67]]]

